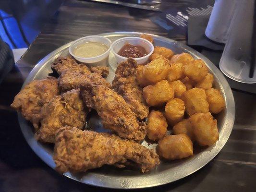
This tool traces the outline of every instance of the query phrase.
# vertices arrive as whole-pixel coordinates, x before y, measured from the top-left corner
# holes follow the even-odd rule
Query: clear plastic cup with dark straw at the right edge
[[[252,46],[256,46],[253,44],[254,9],[254,0],[237,2],[230,35],[219,62],[219,68],[226,76],[247,84],[256,83],[256,65],[251,63],[255,59]],[[254,75],[250,76],[253,71]]]

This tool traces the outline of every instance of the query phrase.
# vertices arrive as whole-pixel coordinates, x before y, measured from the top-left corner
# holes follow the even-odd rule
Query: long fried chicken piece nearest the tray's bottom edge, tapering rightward
[[[130,161],[148,172],[159,164],[153,151],[116,135],[63,127],[57,132],[53,159],[57,171],[85,172],[103,165],[125,167]]]

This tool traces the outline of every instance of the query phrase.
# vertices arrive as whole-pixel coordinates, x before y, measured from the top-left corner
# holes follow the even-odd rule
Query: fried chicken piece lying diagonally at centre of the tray
[[[146,136],[145,122],[139,122],[122,96],[103,85],[87,84],[81,93],[88,108],[94,108],[104,128],[124,139],[141,141]]]

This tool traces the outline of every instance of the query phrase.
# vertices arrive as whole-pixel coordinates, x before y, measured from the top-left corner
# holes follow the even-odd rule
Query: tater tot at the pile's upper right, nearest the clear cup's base
[[[189,65],[184,66],[184,74],[195,82],[200,82],[208,72],[205,62],[201,59],[193,60]]]

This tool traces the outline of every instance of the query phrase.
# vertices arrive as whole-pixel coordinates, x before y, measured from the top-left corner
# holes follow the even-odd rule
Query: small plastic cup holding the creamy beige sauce
[[[85,42],[98,42],[103,43],[106,46],[108,46],[108,50],[98,56],[95,57],[78,57],[73,53],[73,50]],[[110,39],[104,37],[104,36],[85,36],[80,39],[77,39],[74,41],[71,46],[69,47],[69,53],[74,57],[74,59],[85,63],[89,66],[96,67],[96,66],[107,66],[109,64],[109,55],[110,55],[110,49],[111,49],[111,41]]]

